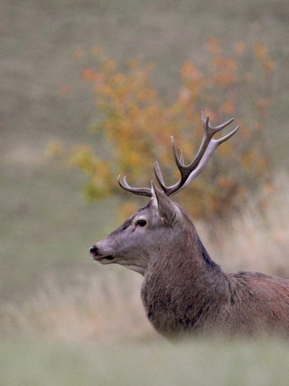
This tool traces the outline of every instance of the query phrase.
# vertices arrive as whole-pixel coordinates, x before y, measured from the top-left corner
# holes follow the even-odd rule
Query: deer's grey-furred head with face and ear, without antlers
[[[181,214],[177,206],[152,185],[149,204],[90,249],[94,260],[117,263],[145,274],[150,261],[179,231]]]

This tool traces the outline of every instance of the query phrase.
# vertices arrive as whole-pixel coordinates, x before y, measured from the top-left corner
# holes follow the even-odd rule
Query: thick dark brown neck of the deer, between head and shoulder
[[[209,305],[228,298],[228,280],[209,256],[192,223],[164,246],[146,271],[142,301],[148,319],[163,334],[194,328]],[[188,316],[189,315],[189,316]]]

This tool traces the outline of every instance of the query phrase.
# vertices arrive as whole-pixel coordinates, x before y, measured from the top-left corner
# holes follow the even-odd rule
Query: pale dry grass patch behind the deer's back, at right
[[[218,229],[212,241],[204,224],[197,226],[211,257],[226,271],[259,271],[289,278],[289,179],[279,173],[275,193],[263,209],[252,201],[241,214]]]

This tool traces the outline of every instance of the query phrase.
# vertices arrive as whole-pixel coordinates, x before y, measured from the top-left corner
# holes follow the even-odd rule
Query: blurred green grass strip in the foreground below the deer
[[[195,340],[69,343],[4,340],[5,385],[286,385],[289,353],[283,342]]]

